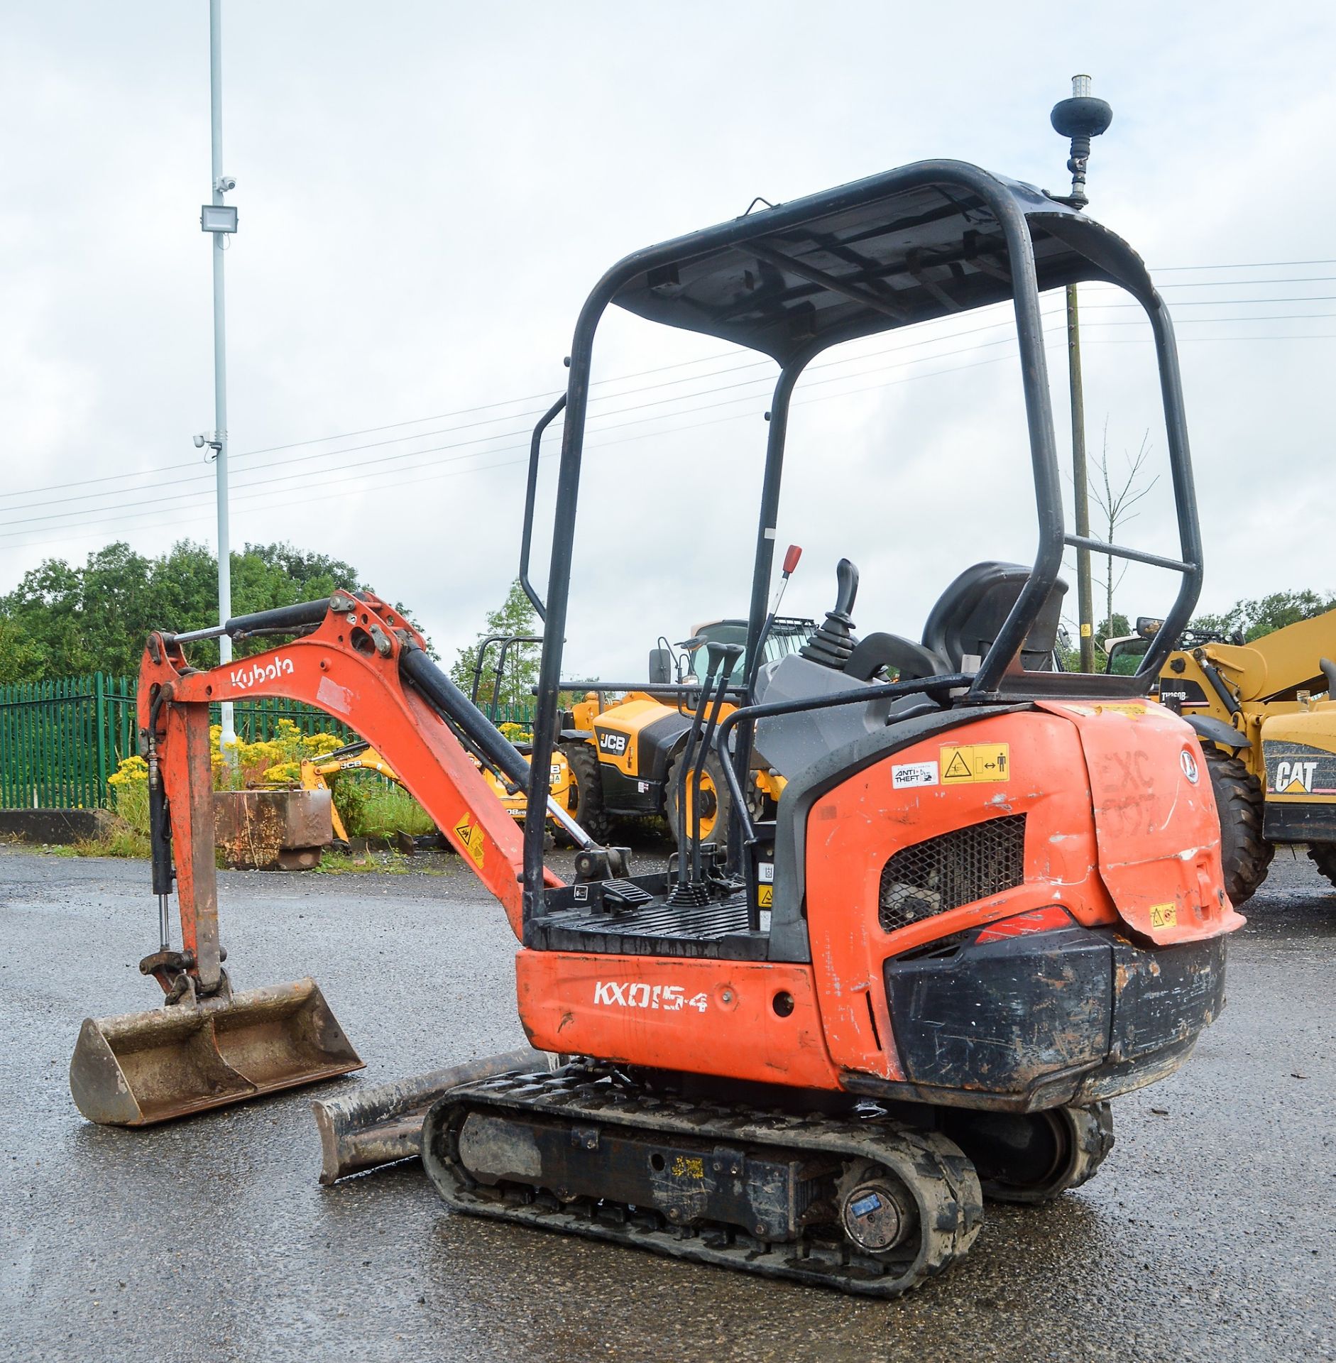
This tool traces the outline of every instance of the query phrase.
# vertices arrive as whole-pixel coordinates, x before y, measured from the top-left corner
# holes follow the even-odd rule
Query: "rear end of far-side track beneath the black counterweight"
[[[953,1112],[947,1134],[994,1202],[1050,1202],[1092,1179],[1114,1148],[1107,1103],[1047,1112]]]

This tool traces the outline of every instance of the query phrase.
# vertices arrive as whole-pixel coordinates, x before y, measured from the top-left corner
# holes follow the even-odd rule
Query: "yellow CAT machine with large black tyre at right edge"
[[[1142,616],[1110,639],[1108,669],[1136,671],[1160,624]],[[1206,754],[1230,898],[1257,890],[1281,844],[1306,844],[1336,885],[1336,611],[1246,643],[1200,630],[1176,642],[1156,686]]]

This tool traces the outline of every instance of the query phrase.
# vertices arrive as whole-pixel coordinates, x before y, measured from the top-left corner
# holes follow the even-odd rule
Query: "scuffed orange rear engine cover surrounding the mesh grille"
[[[1179,762],[1185,747],[1196,746],[1191,729],[1159,706],[1149,710],[1155,713],[1145,705],[1046,706],[984,718],[857,771],[814,804],[807,924],[826,1044],[837,1066],[901,1077],[882,965],[926,942],[1050,904],[1085,927],[1121,920],[1157,942],[1216,936],[1242,924],[1219,894],[1220,833],[1209,782],[1191,785]],[[1005,756],[991,771],[980,762],[972,778],[947,784],[961,748]],[[1088,780],[1091,755],[1100,774]],[[932,770],[937,778],[897,788],[897,767]],[[1142,788],[1115,784],[1123,770]],[[1141,811],[1140,822],[1130,810]],[[894,852],[1002,814],[1027,816],[1022,885],[896,931],[881,927],[881,872]],[[1152,900],[1179,904],[1176,925],[1148,931]]]

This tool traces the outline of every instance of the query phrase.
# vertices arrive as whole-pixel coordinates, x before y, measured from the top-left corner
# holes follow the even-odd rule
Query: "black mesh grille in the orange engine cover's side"
[[[901,848],[882,867],[886,932],[1025,882],[1025,815],[1007,814]]]

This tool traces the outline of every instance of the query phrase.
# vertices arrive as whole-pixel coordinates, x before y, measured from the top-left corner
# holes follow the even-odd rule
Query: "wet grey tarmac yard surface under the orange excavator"
[[[990,1206],[896,1303],[451,1216],[417,1165],[320,1189],[312,1096],[523,1040],[504,917],[432,861],[224,874],[237,987],[314,975],[367,1070],[124,1131],[67,1066],[85,1015],[157,1003],[147,867],[0,846],[0,1359],[1336,1358],[1336,891],[1306,859],[1187,1066],[1114,1103],[1099,1176]]]

